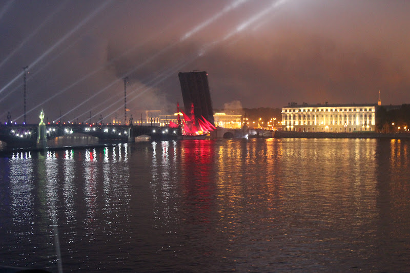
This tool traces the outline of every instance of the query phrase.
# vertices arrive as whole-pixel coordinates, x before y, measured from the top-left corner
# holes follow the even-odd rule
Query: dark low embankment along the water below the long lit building
[[[386,139],[410,139],[409,133],[325,133],[325,132],[291,132],[274,131],[275,138],[386,138]]]

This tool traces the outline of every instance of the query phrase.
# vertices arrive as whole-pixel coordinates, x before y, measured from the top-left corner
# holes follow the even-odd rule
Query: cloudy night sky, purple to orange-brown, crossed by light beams
[[[179,72],[214,108],[410,103],[410,1],[1,1],[0,121],[176,111]]]

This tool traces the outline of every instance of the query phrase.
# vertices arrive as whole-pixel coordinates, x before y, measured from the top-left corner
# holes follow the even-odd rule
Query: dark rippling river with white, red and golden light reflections
[[[410,141],[218,139],[0,158],[0,266],[410,271]]]

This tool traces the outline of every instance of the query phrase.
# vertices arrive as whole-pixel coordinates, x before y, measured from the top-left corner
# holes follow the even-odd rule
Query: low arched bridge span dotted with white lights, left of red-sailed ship
[[[0,124],[0,141],[9,147],[35,147],[39,137],[38,124]],[[133,142],[135,137],[150,136],[151,139],[177,139],[181,136],[180,128],[138,126],[138,125],[108,125],[108,124],[45,124],[47,140],[70,134],[94,136],[100,142],[118,141]]]

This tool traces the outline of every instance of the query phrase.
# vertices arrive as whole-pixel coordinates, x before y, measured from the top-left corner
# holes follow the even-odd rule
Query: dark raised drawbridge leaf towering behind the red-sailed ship
[[[195,119],[199,119],[203,116],[211,122],[212,125],[215,125],[207,75],[205,71],[181,72],[178,74],[178,77],[181,85],[185,113],[191,113],[193,103]]]

